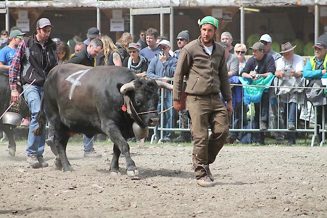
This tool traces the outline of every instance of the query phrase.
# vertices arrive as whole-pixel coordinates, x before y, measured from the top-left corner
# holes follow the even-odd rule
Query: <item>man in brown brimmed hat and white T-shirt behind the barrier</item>
[[[291,43],[287,42],[281,46],[282,58],[276,62],[275,85],[276,86],[292,86],[300,87],[304,85],[302,77],[303,59],[301,56],[294,54],[294,48]],[[287,129],[296,130],[296,110],[297,104],[304,103],[304,91],[299,88],[275,88],[275,93],[280,96],[280,105],[287,111],[288,119]],[[286,115],[284,115],[286,116]],[[295,144],[295,132],[288,133],[287,145]]]

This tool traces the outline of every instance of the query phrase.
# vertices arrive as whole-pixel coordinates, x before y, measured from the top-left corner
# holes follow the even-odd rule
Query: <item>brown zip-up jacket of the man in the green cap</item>
[[[232,99],[225,52],[216,42],[211,55],[204,51],[200,37],[184,46],[174,74],[174,100],[181,100],[184,75],[186,93],[205,95],[221,92],[225,100]]]

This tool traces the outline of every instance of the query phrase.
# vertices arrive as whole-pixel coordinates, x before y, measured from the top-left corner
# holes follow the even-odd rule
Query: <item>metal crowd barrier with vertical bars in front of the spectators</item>
[[[153,79],[157,79],[157,78],[153,78]],[[173,79],[169,79],[171,81],[171,83],[173,83]],[[184,81],[185,82],[185,81]],[[231,84],[234,86],[257,86],[257,87],[263,87],[262,85],[244,85],[244,84]],[[313,106],[310,101],[307,100],[306,96],[305,96],[305,89],[312,89],[313,87],[288,87],[288,86],[274,86],[274,85],[265,85],[264,87],[269,87],[270,93],[269,93],[269,124],[268,124],[268,129],[267,130],[260,130],[259,126],[260,126],[260,122],[261,122],[261,115],[262,115],[262,111],[261,111],[261,104],[263,102],[260,101],[258,107],[260,108],[259,110],[259,124],[254,125],[256,122],[254,121],[254,117],[255,117],[255,108],[254,108],[254,103],[251,103],[249,105],[244,104],[243,103],[243,88],[242,88],[242,102],[241,102],[241,114],[240,116],[237,116],[237,118],[240,117],[240,125],[235,124],[237,122],[235,122],[236,119],[236,114],[233,113],[233,115],[231,116],[231,124],[230,124],[230,128],[229,131],[230,133],[263,133],[263,132],[270,132],[272,134],[275,135],[276,134],[280,134],[280,135],[284,135],[284,133],[313,133],[312,137],[311,137],[311,147],[313,147],[314,145],[317,144],[317,141],[319,138],[319,134],[321,134],[320,138],[320,146],[323,145],[324,140],[325,140],[325,119],[324,119],[324,115],[325,115],[325,111],[324,111],[324,106],[320,106],[321,107],[321,112],[322,114],[319,114],[319,119],[317,117],[317,106]],[[288,120],[289,120],[289,111],[290,111],[290,104],[289,103],[284,103],[281,100],[280,95],[275,95],[273,97],[271,97],[272,94],[272,90],[271,89],[275,89],[275,88],[297,88],[297,89],[303,89],[302,92],[299,93],[303,93],[303,104],[298,104],[298,99],[296,99],[296,110],[295,110],[295,129],[294,130],[289,130],[289,124],[288,124]],[[314,89],[326,89],[326,87],[314,87]],[[267,90],[267,89],[265,89]],[[158,112],[159,111],[163,111],[164,108],[164,101],[165,99],[167,100],[167,97],[165,98],[165,91],[164,89],[160,90],[160,108],[158,108]],[[167,96],[167,95],[166,95]],[[289,95],[288,95],[289,96]],[[298,95],[297,95],[298,97]],[[272,103],[273,98],[275,99],[274,103]],[[172,95],[172,91],[170,94],[170,106],[173,105],[173,95]],[[288,100],[288,97],[287,97]],[[265,102],[268,103],[268,102]],[[234,105],[233,105],[234,106]],[[244,108],[249,107],[249,110],[246,111],[244,110]],[[286,111],[285,111],[286,109]],[[283,111],[284,110],[284,111]],[[244,114],[246,111],[246,114]],[[235,112],[235,108],[234,108],[234,112]],[[165,127],[164,123],[164,114],[169,113],[169,118],[170,118],[170,123],[169,126],[170,127]],[[174,121],[174,115],[175,112],[174,110],[170,110],[168,112],[162,113],[160,115],[160,125],[158,127],[152,127],[150,129],[154,130],[154,134],[151,137],[151,144],[154,142],[154,140],[156,139],[158,141],[158,143],[163,142],[164,139],[164,134],[165,131],[166,132],[183,132],[183,131],[187,131],[190,132],[190,120],[188,120],[188,125],[187,128],[183,128],[182,126],[182,114],[181,112],[178,112],[178,119],[175,119],[176,121],[180,121],[177,122]],[[293,115],[292,115],[293,116]],[[286,120],[286,122],[285,122]],[[209,129],[210,131],[210,129]]]

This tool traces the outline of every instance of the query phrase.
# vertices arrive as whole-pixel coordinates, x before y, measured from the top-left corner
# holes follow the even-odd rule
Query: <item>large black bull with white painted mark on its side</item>
[[[138,171],[130,157],[126,139],[134,137],[133,122],[136,121],[141,127],[158,123],[158,87],[172,89],[172,85],[165,82],[137,78],[133,71],[123,67],[92,68],[78,64],[56,66],[44,84],[38,114],[39,128],[35,134],[41,134],[45,129],[44,102],[46,117],[55,133],[57,169],[72,170],[66,156],[67,142],[72,134],[84,133],[88,137],[106,134],[114,143],[111,174],[118,175],[118,159],[120,153],[123,153],[127,174],[135,176]],[[135,112],[150,113],[140,114],[139,120],[135,119],[136,113],[129,116],[123,112],[123,93],[130,98]]]

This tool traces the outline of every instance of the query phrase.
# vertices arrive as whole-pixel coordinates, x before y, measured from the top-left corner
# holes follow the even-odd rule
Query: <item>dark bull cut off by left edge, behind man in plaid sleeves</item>
[[[22,92],[22,87],[18,87],[18,91]],[[8,74],[0,73],[0,116],[7,110],[9,106],[9,101],[11,98],[11,92],[9,87],[9,77]],[[29,117],[29,108],[25,102],[21,101],[20,113],[23,117]],[[16,142],[14,139],[13,128],[14,126],[3,124],[3,121],[0,121],[0,131],[4,131],[8,137],[8,148],[9,154],[15,156],[16,152]]]

